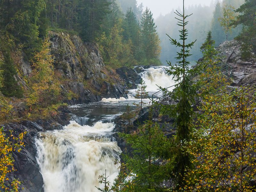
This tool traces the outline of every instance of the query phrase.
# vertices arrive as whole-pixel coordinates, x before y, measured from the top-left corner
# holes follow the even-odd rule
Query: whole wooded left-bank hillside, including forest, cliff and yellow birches
[[[61,40],[68,42],[64,45]],[[44,103],[42,100],[48,100],[44,104],[47,107],[70,98],[70,94],[74,97],[76,90],[68,97],[60,92],[60,84],[68,81],[63,74],[68,78],[75,76],[76,82],[83,83],[83,90],[97,87],[95,82],[109,84],[111,81],[100,77],[93,77],[94,82],[88,80],[90,67],[86,64],[96,58],[88,55],[90,52],[95,52],[98,58],[102,55],[108,68],[104,79],[120,66],[159,64],[159,44],[152,12],[148,8],[143,12],[143,5],[137,5],[136,1],[0,1],[0,92],[5,96],[1,96],[4,98],[1,105],[6,105],[8,113],[9,97],[26,98],[30,110],[32,105]],[[56,50],[55,46],[60,47]],[[79,50],[83,46],[88,51]],[[67,51],[71,52],[71,58],[65,57]],[[68,65],[64,60],[68,60]],[[77,63],[80,69],[74,67]],[[60,70],[59,75],[56,70]],[[103,69],[91,73],[98,70]],[[76,71],[83,75],[77,75]],[[101,89],[98,86],[95,95]]]

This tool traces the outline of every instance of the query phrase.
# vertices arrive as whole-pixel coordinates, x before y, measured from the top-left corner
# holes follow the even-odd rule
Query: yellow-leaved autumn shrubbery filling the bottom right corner
[[[188,149],[194,169],[183,191],[254,191],[256,175],[256,103],[242,88],[206,97]]]

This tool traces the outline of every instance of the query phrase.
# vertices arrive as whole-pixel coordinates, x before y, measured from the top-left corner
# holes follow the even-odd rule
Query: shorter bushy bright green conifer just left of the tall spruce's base
[[[137,132],[119,135],[133,149],[131,155],[123,155],[127,170],[126,179],[122,180],[124,184],[121,185],[126,186],[124,191],[163,191],[161,184],[170,177],[169,171],[172,169],[171,143],[159,124],[152,122],[152,108],[149,110],[149,120],[140,125]],[[159,159],[163,161],[162,164],[157,163]]]

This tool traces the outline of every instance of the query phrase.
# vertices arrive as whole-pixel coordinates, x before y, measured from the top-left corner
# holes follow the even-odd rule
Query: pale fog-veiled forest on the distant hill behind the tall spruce
[[[185,8],[185,11],[188,14],[193,13],[193,15],[189,18],[190,21],[188,30],[190,33],[188,36],[188,41],[193,41],[194,39],[197,40],[193,50],[191,50],[192,56],[189,58],[192,64],[194,63],[193,61],[197,61],[203,56],[200,47],[204,43],[209,30],[212,31],[212,38],[215,40],[215,46],[219,46],[221,42],[226,41],[225,30],[222,26],[220,26],[219,21],[219,18],[223,17],[223,7],[225,5],[231,5],[232,8],[236,10],[243,3],[244,0],[216,0],[212,1],[210,6],[195,5]],[[180,8],[178,11],[180,11]],[[174,10],[165,16],[160,15],[156,19],[156,25],[162,47],[160,60],[162,63],[166,63],[166,60],[172,60],[172,58],[176,56],[176,52],[179,51],[170,46],[170,41],[166,35],[167,33],[169,36],[177,39],[179,38]],[[228,40],[232,40],[238,36],[241,33],[242,28],[242,25],[238,25],[236,28],[233,28],[232,32],[228,34]]]

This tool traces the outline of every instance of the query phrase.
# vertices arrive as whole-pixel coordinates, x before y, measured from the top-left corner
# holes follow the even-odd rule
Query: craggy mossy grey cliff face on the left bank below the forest
[[[96,44],[84,43],[80,37],[50,31],[55,74],[62,82],[63,94],[71,92],[69,104],[119,98],[126,92],[123,80],[105,68]]]

